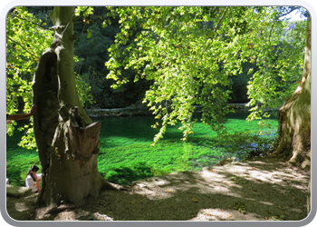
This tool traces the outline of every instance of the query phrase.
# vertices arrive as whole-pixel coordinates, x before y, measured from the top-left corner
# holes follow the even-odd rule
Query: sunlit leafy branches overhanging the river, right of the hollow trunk
[[[121,32],[110,47],[108,78],[117,81],[113,87],[128,83],[129,78],[121,74],[121,69],[131,68],[137,72],[134,81],[154,81],[144,99],[156,118],[161,119],[154,143],[168,124],[177,121],[183,124],[180,129],[186,140],[195,123],[194,104],[202,105],[203,122],[226,114],[226,109],[216,114],[214,102],[226,103],[230,76],[242,74],[243,63],[257,67],[248,85],[249,104],[255,105],[249,119],[268,116],[263,108],[281,104],[285,97],[281,94],[292,90],[276,78],[292,81],[303,66],[303,40],[296,38],[297,44],[291,50],[277,47],[285,27],[279,20],[284,11],[289,12],[288,8],[246,6],[113,8],[112,15],[120,16]],[[143,30],[137,33],[136,43],[128,44],[137,23]],[[301,32],[299,28],[294,34]],[[128,46],[122,50],[125,45]],[[275,48],[280,51],[278,57]],[[294,65],[299,67],[293,69]],[[293,72],[297,74],[289,74]],[[257,102],[263,104],[262,109],[258,109]],[[153,127],[157,125],[159,121]]]

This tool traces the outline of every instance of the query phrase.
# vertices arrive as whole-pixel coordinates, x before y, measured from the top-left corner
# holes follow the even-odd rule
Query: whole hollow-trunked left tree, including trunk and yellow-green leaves
[[[81,82],[77,86],[73,72],[73,22],[88,14],[91,7],[54,7],[53,26],[49,28],[25,7],[17,7],[8,14],[8,100],[23,95],[25,110],[32,104],[31,98],[39,107],[34,115],[34,135],[43,173],[38,202],[49,207],[78,202],[89,194],[97,195],[102,188],[113,189],[97,168],[101,123],[92,123],[83,111],[77,88],[87,87]],[[27,76],[33,73],[31,86]],[[7,110],[12,114],[14,102],[9,104]]]

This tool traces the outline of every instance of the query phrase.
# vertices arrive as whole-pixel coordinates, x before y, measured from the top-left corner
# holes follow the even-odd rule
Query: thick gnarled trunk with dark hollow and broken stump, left
[[[97,167],[101,123],[92,123],[76,91],[73,14],[73,6],[54,7],[53,44],[34,74],[34,134],[43,173],[37,202],[51,208],[114,189]]]

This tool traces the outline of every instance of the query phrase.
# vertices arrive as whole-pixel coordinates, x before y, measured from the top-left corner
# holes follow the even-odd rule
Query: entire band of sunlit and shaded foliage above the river
[[[153,127],[160,124],[155,141],[178,121],[186,139],[196,104],[215,130],[228,112],[226,102],[277,107],[293,92],[303,67],[305,22],[281,20],[294,9],[78,6],[74,70],[82,105],[125,107],[144,99],[157,115]],[[16,7],[7,15],[8,114],[30,109],[32,76],[52,43],[52,10]],[[256,114],[261,112],[250,119]],[[33,129],[25,128],[29,136],[20,145],[32,148]]]

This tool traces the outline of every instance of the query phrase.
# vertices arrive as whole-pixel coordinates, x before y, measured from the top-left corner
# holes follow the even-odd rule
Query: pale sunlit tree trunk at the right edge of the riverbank
[[[288,163],[309,169],[311,165],[311,18],[307,21],[303,78],[278,111],[279,143],[275,153]]]

